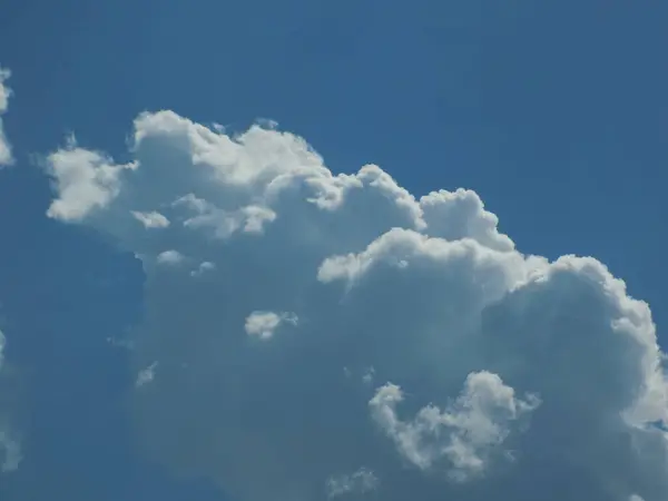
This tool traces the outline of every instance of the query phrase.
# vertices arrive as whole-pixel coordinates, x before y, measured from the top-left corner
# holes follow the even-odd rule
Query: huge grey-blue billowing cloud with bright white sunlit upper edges
[[[160,111],[132,137],[127,165],[52,154],[49,214],[144,262],[149,456],[239,501],[668,498],[664,354],[601,263],[521,254],[474,191],[333,174],[273,127]],[[298,322],[255,342],[277,312]]]

